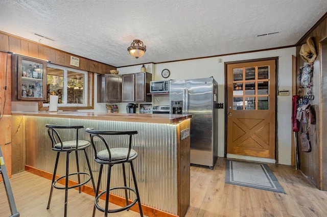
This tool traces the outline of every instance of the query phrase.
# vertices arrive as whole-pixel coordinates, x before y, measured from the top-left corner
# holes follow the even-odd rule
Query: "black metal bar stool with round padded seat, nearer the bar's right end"
[[[143,216],[141,200],[139,199],[135,171],[134,171],[134,166],[133,166],[133,160],[137,157],[137,152],[131,148],[132,135],[137,134],[137,131],[100,131],[100,130],[94,130],[94,128],[86,128],[86,132],[90,133],[90,141],[91,141],[92,147],[94,148],[94,151],[95,151],[94,160],[100,164],[99,180],[98,180],[98,184],[97,184],[95,205],[93,208],[93,216],[95,216],[95,214],[96,214],[96,208],[99,209],[100,211],[104,212],[105,213],[104,216],[108,216],[108,213],[114,213],[114,212],[128,210],[136,202],[138,203],[139,214],[141,216]],[[110,136],[111,135],[128,135],[128,137],[129,137],[128,148],[126,148],[126,147],[109,148],[107,140],[104,137],[105,135],[110,135]],[[100,151],[98,151],[98,150],[100,150]],[[128,187],[126,184],[125,163],[130,164],[135,188]],[[111,168],[117,164],[122,164],[122,166],[123,166],[124,186],[110,187]],[[101,192],[99,194],[103,165],[108,165],[107,187],[103,192]],[[124,189],[126,206],[118,208],[118,209],[109,209],[109,193],[113,189]],[[133,192],[136,195],[135,200],[132,201],[130,204],[128,204],[127,191]],[[106,194],[105,208],[100,207],[100,205],[98,204],[99,198],[103,194]]]

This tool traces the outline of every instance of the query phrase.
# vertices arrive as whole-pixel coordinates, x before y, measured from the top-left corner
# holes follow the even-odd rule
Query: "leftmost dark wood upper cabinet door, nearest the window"
[[[122,101],[122,79],[120,75],[106,74],[107,102]]]

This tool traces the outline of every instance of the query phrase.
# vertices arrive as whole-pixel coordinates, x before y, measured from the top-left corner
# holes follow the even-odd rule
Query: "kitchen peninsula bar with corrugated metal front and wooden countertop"
[[[55,153],[51,150],[45,124],[84,125],[85,128],[94,127],[98,130],[137,130],[138,134],[133,137],[132,144],[138,153],[134,167],[144,214],[184,216],[190,205],[191,118],[191,115],[162,114],[12,112],[12,131],[15,132],[16,138],[13,146],[21,144],[21,147],[26,147],[25,170],[51,178]],[[68,135],[64,134],[62,137]],[[80,139],[89,140],[89,134],[81,130]],[[94,150],[88,148],[87,154],[92,159]],[[24,159],[25,156],[21,158]],[[75,157],[72,160],[74,159]],[[86,165],[86,160],[84,161]],[[61,164],[64,164],[64,161]],[[64,174],[63,168],[64,166],[58,166],[57,173]],[[84,167],[85,171],[86,168]],[[94,160],[91,160],[91,168],[97,180],[99,165]],[[121,173],[121,167],[114,168],[113,173]],[[105,176],[103,178],[100,188],[106,183]],[[121,185],[121,181],[113,178],[112,183]],[[85,189],[85,192],[91,194],[92,191]],[[118,194],[111,197],[113,200],[110,202],[124,205],[123,197],[123,194]],[[137,211],[138,208],[132,210]]]

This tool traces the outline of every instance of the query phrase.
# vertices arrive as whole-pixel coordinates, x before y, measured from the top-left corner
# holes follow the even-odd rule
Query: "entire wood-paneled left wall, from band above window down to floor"
[[[29,41],[27,39],[19,38],[0,31],[0,145],[4,153],[6,167],[11,177],[11,173],[21,171],[21,167],[25,165],[25,160],[20,157],[17,158],[18,152],[23,151],[24,144],[14,144],[15,148],[19,148],[12,155],[12,120],[11,120],[11,55],[7,52],[15,52],[21,55],[27,55],[34,58],[40,58],[51,61],[51,63],[66,66],[70,68],[80,69],[88,72],[105,74],[116,67],[103,64],[97,61],[89,60],[71,53],[67,53],[40,43]],[[71,56],[80,59],[80,66],[74,67],[70,65]],[[8,61],[7,61],[8,58]],[[7,65],[6,65],[7,63]],[[89,76],[89,82],[93,83]],[[5,91],[4,87],[7,86]],[[93,87],[89,84],[88,87]],[[6,103],[5,103],[6,95]],[[94,95],[90,95],[90,103],[94,104]],[[4,106],[5,105],[5,106]],[[89,107],[91,108],[91,107]],[[69,108],[68,108],[69,109]],[[19,125],[14,127],[19,128]],[[14,133],[17,137],[17,131]],[[13,156],[13,157],[12,157]],[[25,159],[25,158],[24,158]]]

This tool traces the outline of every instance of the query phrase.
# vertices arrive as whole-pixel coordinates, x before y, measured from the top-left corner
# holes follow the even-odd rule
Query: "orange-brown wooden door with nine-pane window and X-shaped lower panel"
[[[275,60],[227,65],[227,153],[275,158]]]

